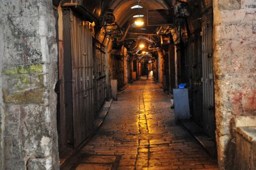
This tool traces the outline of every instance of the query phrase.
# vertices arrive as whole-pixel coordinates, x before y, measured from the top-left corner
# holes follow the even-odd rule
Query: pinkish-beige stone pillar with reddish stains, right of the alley
[[[214,0],[216,141],[220,169],[234,169],[234,120],[256,116],[256,5]]]

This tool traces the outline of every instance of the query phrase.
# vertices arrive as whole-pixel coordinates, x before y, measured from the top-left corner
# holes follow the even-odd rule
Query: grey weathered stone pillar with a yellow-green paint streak
[[[52,1],[0,4],[0,169],[58,169]]]

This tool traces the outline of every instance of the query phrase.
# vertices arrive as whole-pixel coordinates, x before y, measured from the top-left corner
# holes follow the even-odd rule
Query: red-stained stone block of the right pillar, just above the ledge
[[[218,128],[220,132],[228,132],[228,127],[230,127],[229,120],[233,116],[255,115],[256,87],[253,88],[252,86],[255,78],[250,78],[247,75],[243,75],[243,73],[233,79],[234,74],[226,75],[225,78],[220,77],[218,76],[215,88],[216,123],[217,126],[220,125],[220,128]],[[232,83],[230,80],[232,80]]]

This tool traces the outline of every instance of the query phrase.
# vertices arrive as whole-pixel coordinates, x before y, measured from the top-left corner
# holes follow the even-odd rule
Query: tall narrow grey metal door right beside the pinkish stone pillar
[[[202,84],[203,84],[203,118],[205,132],[215,139],[214,115],[214,81],[212,65],[212,13],[202,24]]]

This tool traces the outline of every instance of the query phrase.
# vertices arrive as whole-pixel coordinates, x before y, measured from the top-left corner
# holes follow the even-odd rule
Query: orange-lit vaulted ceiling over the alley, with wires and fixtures
[[[105,35],[115,39],[116,48],[120,48],[122,44],[127,49],[136,52],[136,50],[140,49],[138,48],[140,41],[147,43],[148,49],[157,49],[160,40],[162,43],[163,39],[162,35],[159,35],[160,31],[161,33],[163,31],[164,34],[170,34],[168,31],[170,31],[170,24],[173,24],[173,5],[188,2],[189,0],[62,0],[61,4],[81,13],[82,17],[88,19],[88,21],[95,21],[96,27],[104,27]],[[138,4],[143,8],[131,9],[132,6]],[[157,11],[148,15],[148,10]],[[113,12],[113,15],[115,15],[117,26],[115,24],[106,25],[106,19],[108,19],[106,16],[109,16],[109,12]],[[113,17],[112,14],[110,15]],[[143,26],[134,24],[134,15],[144,15]],[[159,20],[163,22],[147,23],[148,21]]]

